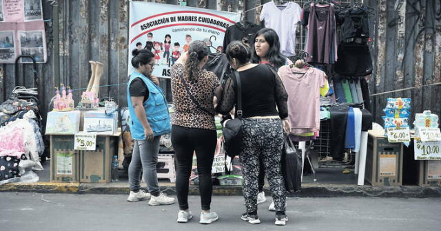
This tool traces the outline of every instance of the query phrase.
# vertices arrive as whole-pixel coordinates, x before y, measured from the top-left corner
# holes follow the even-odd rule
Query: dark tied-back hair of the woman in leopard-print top
[[[185,62],[185,76],[189,80],[194,80],[198,78],[199,72],[199,63],[207,56],[209,53],[207,45],[203,41],[193,41],[190,43],[188,48],[189,57]]]

